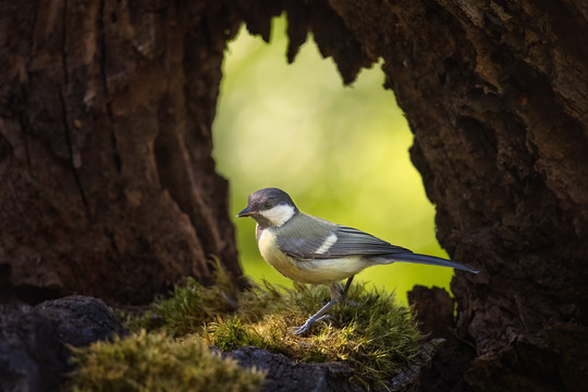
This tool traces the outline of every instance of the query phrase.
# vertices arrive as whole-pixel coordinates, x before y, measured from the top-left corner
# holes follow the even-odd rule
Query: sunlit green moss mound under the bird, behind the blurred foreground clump
[[[294,360],[342,360],[354,370],[354,381],[366,387],[390,379],[419,350],[416,322],[393,294],[354,284],[347,302],[331,308],[330,320],[298,336],[293,329],[329,301],[328,287],[296,284],[286,290],[265,283],[238,293],[222,268],[218,271],[217,284],[205,287],[188,278],[143,316],[126,316],[127,326],[176,338],[200,334],[222,351],[255,345]]]

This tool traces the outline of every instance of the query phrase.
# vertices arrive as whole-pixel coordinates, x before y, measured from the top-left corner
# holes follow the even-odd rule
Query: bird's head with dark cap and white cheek
[[[262,228],[280,228],[296,212],[298,209],[284,191],[264,188],[249,195],[247,207],[237,217],[252,217]]]

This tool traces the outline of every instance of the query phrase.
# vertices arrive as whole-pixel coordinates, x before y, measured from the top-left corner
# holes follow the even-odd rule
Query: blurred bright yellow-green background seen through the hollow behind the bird
[[[434,207],[408,157],[413,135],[393,93],[382,88],[380,66],[343,87],[313,39],[289,65],[285,28],[285,17],[274,19],[270,45],[242,28],[225,53],[212,135],[233,217],[250,193],[275,186],[306,213],[446,257],[434,236]],[[255,221],[234,223],[245,273],[291,286],[259,255]],[[395,290],[406,304],[413,285],[449,290],[452,274],[449,268],[394,264],[356,279]]]

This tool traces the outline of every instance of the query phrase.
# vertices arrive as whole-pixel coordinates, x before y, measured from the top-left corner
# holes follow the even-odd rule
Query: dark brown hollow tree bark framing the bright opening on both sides
[[[268,39],[285,10],[290,61],[309,30],[345,83],[383,59],[439,240],[481,270],[456,272],[453,331],[448,315],[430,328],[452,336],[431,370],[451,376],[424,388],[584,388],[585,1],[139,3],[0,3],[7,295],[147,302],[206,281],[211,254],[240,273],[210,158],[222,50],[241,21]],[[415,297],[452,308],[438,294]]]

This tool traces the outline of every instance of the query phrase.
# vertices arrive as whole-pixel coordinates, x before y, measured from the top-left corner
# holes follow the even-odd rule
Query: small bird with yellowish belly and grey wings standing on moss
[[[261,257],[284,277],[301,283],[324,284],[331,299],[294,334],[303,335],[329,316],[327,311],[345,299],[353,278],[365,268],[395,261],[456,268],[478,273],[473,267],[436,256],[416,254],[371,234],[298,210],[287,193],[268,187],[249,195],[237,218],[256,220],[256,240]],[[341,281],[346,279],[345,286]]]

